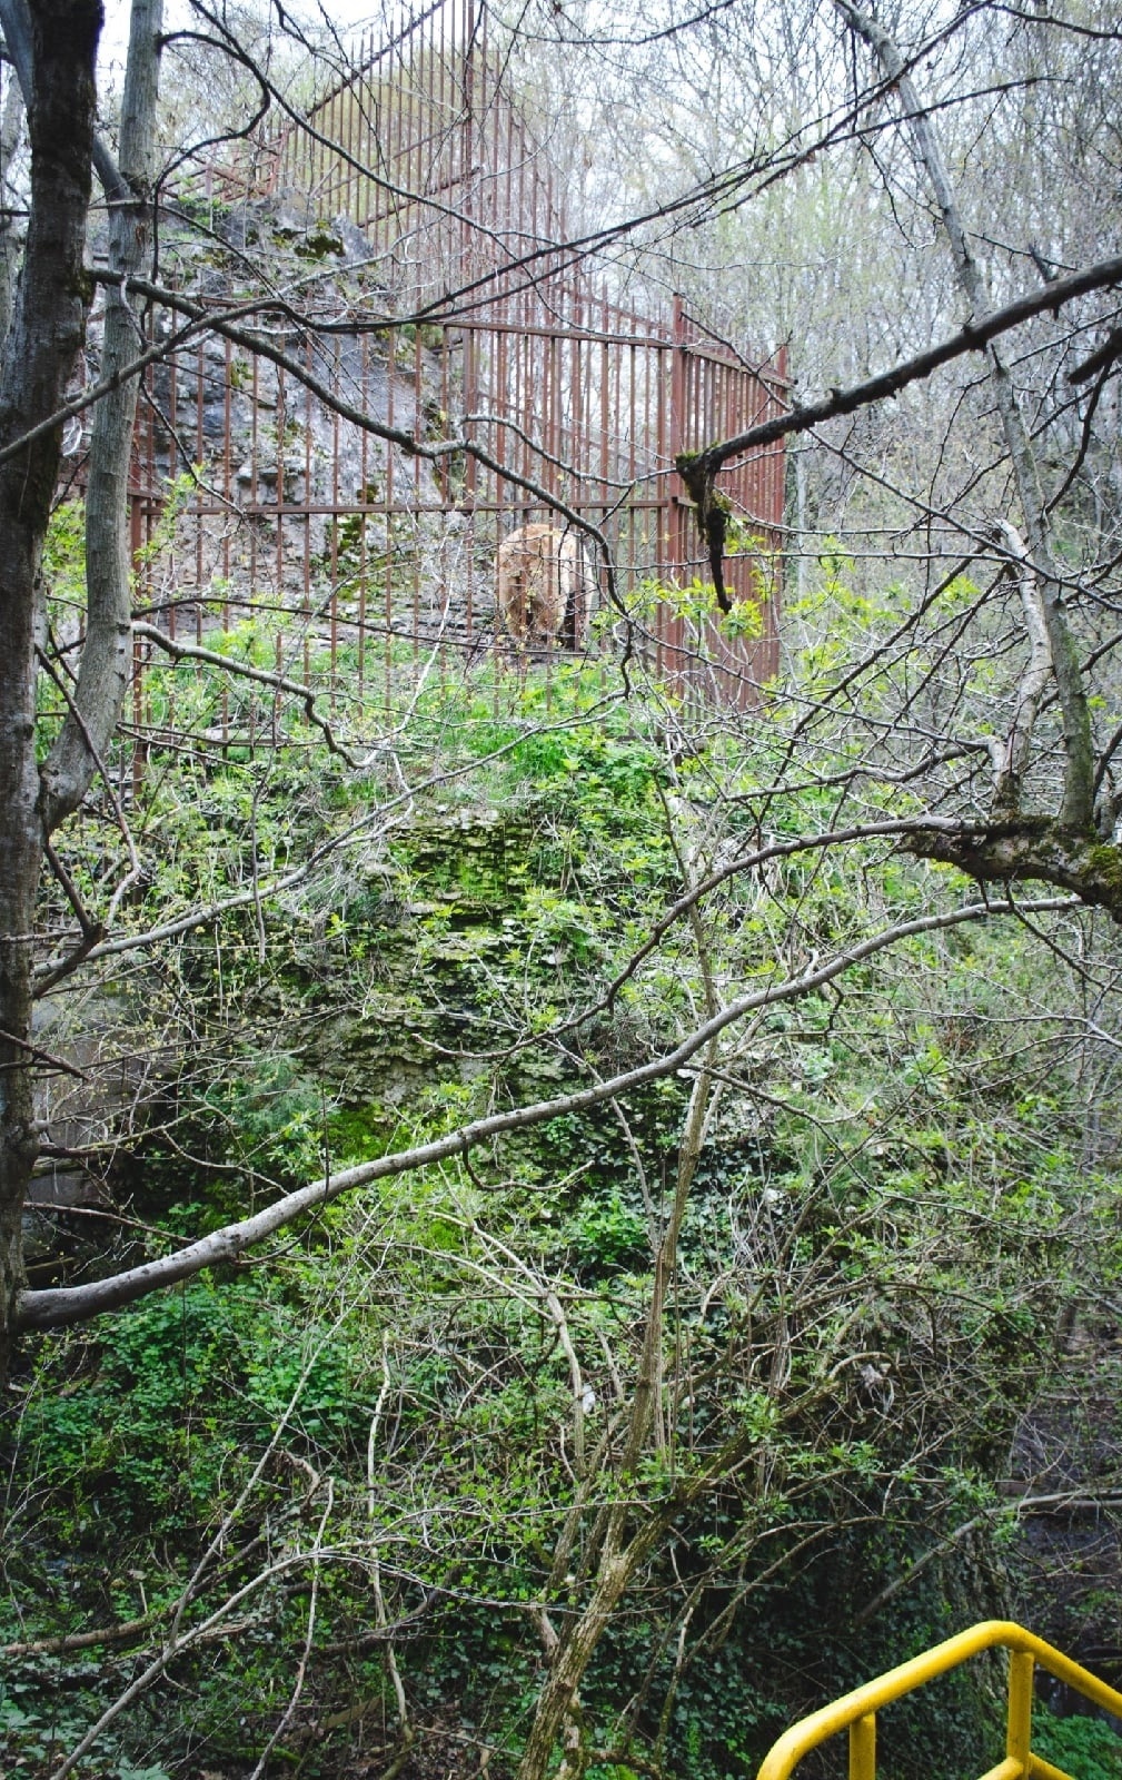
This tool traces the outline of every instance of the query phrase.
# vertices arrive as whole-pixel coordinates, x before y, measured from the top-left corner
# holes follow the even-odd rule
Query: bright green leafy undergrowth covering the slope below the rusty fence
[[[220,648],[256,659],[260,639]],[[169,712],[217,721],[210,671],[156,678]],[[772,797],[782,710],[690,749],[676,721],[599,669],[448,676],[397,740],[430,785],[405,813],[388,767],[349,780],[292,708],[276,748],[153,758],[137,826],[162,863],[123,918],[249,894],[116,991],[123,1054],[151,1066],[114,1182],[160,1228],[148,1241],[667,1050],[704,1013],[699,940],[729,999],[960,897],[878,842],[807,851],[725,878],[699,929],[676,922],[617,983],[685,870],[836,819],[830,789]],[[101,844],[69,842],[94,897]],[[658,1438],[628,1479],[613,1452],[679,1166],[677,1075],[341,1198],[267,1266],[44,1344],[9,1429],[0,1636],[148,1614],[155,1641],[190,1588],[181,1629],[217,1614],[222,1636],[188,1643],[114,1736],[137,1764],[220,1771],[285,1711],[315,1593],[277,1766],[389,1766],[384,1614],[429,1746],[452,1727],[503,1776],[541,1687],[530,1609],[581,1611],[597,1517],[624,1499],[637,1527],[667,1524],[581,1686],[590,1771],[747,1780],[791,1716],[999,1606],[996,1479],[1115,1194],[1079,1164],[1053,968],[1042,984],[1022,927],[932,933],[727,1036]],[[1094,1267],[1117,1278],[1101,1242]],[[12,1675],[30,1762],[62,1682],[34,1657]],[[110,1696],[98,1657],[84,1721]],[[918,1702],[886,1725],[886,1780],[910,1737],[942,1752],[934,1773],[967,1771],[989,1712],[966,1682]]]

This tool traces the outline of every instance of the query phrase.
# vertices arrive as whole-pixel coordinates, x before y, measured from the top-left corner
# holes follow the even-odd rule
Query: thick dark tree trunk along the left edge
[[[85,326],[85,217],[94,139],[98,0],[0,0],[30,82],[30,222],[0,368],[0,450],[59,409]],[[25,80],[27,75],[27,80]],[[0,463],[0,1376],[23,1285],[20,1225],[39,1137],[32,1096],[32,926],[43,863],[36,760],[41,552],[60,425]]]

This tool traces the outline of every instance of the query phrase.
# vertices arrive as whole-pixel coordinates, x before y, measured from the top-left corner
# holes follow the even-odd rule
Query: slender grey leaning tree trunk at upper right
[[[971,253],[969,237],[958,210],[958,199],[955,198],[955,189],[946,171],[932,121],[919,101],[916,84],[905,69],[900,50],[875,18],[857,12],[848,0],[834,0],[834,4],[848,27],[870,44],[884,73],[891,82],[894,82],[896,91],[900,93],[907,125],[916,144],[916,155],[926,171],[935,194],[935,203],[942,214],[942,222],[955,260],[955,271],[958,272],[958,283],[962,285],[973,310],[971,319],[982,320],[989,313],[989,292],[978,269],[978,262]],[[1005,449],[1008,450],[1010,463],[1014,466],[1014,481],[1017,484],[1021,511],[1024,514],[1030,562],[1040,586],[1044,627],[1047,630],[1053,673],[1056,676],[1056,692],[1060,694],[1060,710],[1063,716],[1065,773],[1060,826],[1070,829],[1072,833],[1088,833],[1094,815],[1095,764],[1090,708],[1083,685],[1083,671],[1079,668],[1079,653],[1070,625],[1067,623],[1067,612],[1063,611],[1063,587],[1053,561],[1047,509],[1044,504],[1044,491],[1040,488],[1040,472],[1028,429],[1024,425],[1017,392],[1014,390],[1012,377],[998,349],[989,345],[987,354],[990,361],[990,381],[998,404],[998,415],[1005,434]]]

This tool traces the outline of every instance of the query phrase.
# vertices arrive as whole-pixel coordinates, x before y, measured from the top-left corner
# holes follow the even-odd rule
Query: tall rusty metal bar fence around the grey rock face
[[[738,641],[667,596],[708,580],[674,457],[782,411],[784,358],[750,365],[681,303],[651,317],[612,301],[603,274],[597,288],[564,246],[548,157],[496,68],[475,0],[432,7],[370,46],[306,125],[256,144],[244,180],[254,201],[299,198],[311,224],[345,217],[368,247],[366,312],[352,295],[329,333],[274,319],[274,347],[352,413],[421,441],[475,441],[489,463],[407,454],[292,368],[201,333],[146,379],[132,484],[140,607],[190,641],[252,627],[286,676],[373,712],[411,660],[505,653],[500,541],[557,523],[558,500],[608,541],[649,668],[672,689],[750,705],[777,668],[782,445],[720,482],[741,541],[729,587],[759,609],[759,634]],[[226,169],[228,194],[236,174]],[[389,303],[409,319],[372,324]],[[597,651],[621,612],[592,555],[589,575],[603,616],[569,641]],[[137,644],[140,733],[149,651]]]

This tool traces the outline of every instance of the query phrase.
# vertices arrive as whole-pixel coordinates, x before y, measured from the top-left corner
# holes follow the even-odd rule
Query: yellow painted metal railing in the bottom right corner
[[[1115,1693],[1104,1680],[1088,1675],[1085,1668],[1072,1663],[1060,1650],[1053,1650],[1042,1638],[1033,1638],[1024,1627],[1012,1620],[983,1620],[971,1625],[969,1632],[948,1638],[944,1645],[925,1650],[923,1655],[902,1663],[900,1668],[866,1680],[864,1687],[854,1687],[830,1705],[811,1712],[798,1725],[784,1730],[779,1743],[763,1760],[756,1780],[788,1780],[788,1775],[802,1757],[818,1748],[839,1730],[850,1732],[850,1780],[875,1780],[877,1775],[877,1712],[891,1700],[900,1700],[905,1693],[923,1687],[935,1675],[946,1675],[958,1668],[980,1650],[1005,1648],[1008,1659],[1008,1728],[1005,1737],[1005,1760],[990,1768],[982,1780],[1070,1780],[1062,1768],[1053,1768],[1042,1755],[1031,1752],[1033,1732],[1033,1668],[1038,1663],[1056,1680],[1067,1682],[1076,1693],[1095,1705],[1104,1707],[1122,1718],[1122,1693]],[[918,1771],[926,1764],[919,1762]]]

